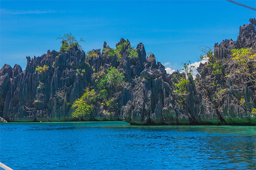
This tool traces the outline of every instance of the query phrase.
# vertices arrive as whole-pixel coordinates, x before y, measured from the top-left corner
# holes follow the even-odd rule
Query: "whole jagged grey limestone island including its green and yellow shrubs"
[[[237,41],[204,49],[206,63],[167,74],[144,45],[123,38],[85,53],[63,41],[59,52],[27,57],[26,69],[0,69],[1,122],[125,121],[134,125],[255,125],[256,19]]]

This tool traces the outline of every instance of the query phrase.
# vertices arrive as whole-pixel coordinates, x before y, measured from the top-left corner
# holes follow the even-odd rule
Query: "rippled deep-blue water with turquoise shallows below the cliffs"
[[[256,169],[256,127],[6,123],[0,161],[14,170]]]

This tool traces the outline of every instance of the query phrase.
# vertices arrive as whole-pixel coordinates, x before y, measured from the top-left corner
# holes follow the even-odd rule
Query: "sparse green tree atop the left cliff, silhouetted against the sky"
[[[62,43],[62,46],[60,47],[60,53],[64,53],[66,51],[68,51],[69,48],[73,47],[73,46],[77,46],[78,49],[82,49],[82,47],[78,44],[78,41],[76,40],[75,36],[72,36],[71,33],[66,33],[64,34],[64,36],[59,36],[56,38],[56,40],[59,39],[61,40],[60,43]],[[82,38],[80,39],[79,42],[83,42],[85,40],[83,40]]]

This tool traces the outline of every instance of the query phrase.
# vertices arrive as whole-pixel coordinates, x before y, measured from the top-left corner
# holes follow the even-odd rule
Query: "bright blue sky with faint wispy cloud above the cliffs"
[[[236,1],[256,7],[256,1]],[[199,46],[237,39],[240,25],[256,12],[216,1],[0,1],[0,67],[60,48],[57,36],[72,33],[84,51],[114,48],[120,38],[144,43],[157,61],[179,69],[198,61]],[[168,63],[168,64],[167,64]]]

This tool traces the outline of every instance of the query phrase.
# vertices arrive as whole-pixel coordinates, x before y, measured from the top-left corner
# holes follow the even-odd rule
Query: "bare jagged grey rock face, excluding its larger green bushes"
[[[223,59],[230,57],[230,51],[235,48],[256,49],[256,20],[250,19],[250,22],[240,27],[237,41],[216,43],[214,56]],[[128,40],[122,38],[116,46],[123,43],[127,46],[120,51],[121,58],[109,56],[109,47],[104,42],[102,52],[92,50],[94,55],[90,57],[73,46],[62,54],[47,51],[41,57],[27,57],[24,71],[18,65],[11,68],[5,64],[0,69],[0,117],[8,122],[122,120],[138,125],[255,125],[256,115],[252,113],[256,108],[255,89],[245,85],[243,80],[226,78],[225,74],[230,72],[228,63],[223,64],[219,75],[214,75],[211,67],[201,63],[197,69],[201,76],[197,75],[196,80],[188,79],[188,96],[181,103],[175,83],[178,78],[185,79],[185,74],[167,74],[154,54],[146,57],[142,43],[136,47],[138,56],[131,57],[127,51]],[[40,73],[36,71],[38,66],[49,68]],[[93,75],[111,66],[123,73],[127,83],[115,93],[113,112],[108,113],[106,107],[96,102],[92,114],[75,119],[71,115],[73,102],[85,89],[97,89]],[[212,82],[225,87],[221,102],[213,100],[217,86],[212,86]],[[61,93],[65,94],[65,99]]]

